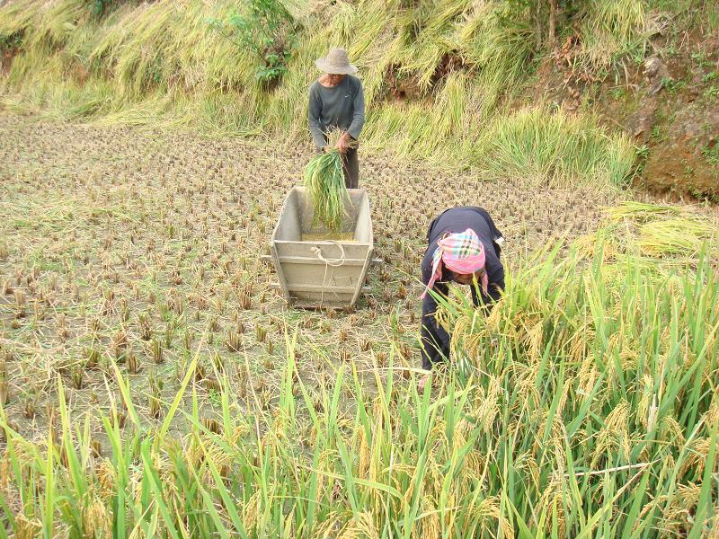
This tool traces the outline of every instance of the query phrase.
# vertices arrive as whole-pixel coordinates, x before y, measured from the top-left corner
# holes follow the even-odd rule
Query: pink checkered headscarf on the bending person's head
[[[422,293],[422,299],[427,296],[435,281],[442,277],[442,264],[447,269],[460,275],[469,275],[484,268],[484,245],[479,241],[477,233],[471,228],[465,232],[448,234],[437,242],[437,249],[432,255],[432,274],[430,282]],[[489,279],[486,271],[482,274],[480,285],[487,293]]]

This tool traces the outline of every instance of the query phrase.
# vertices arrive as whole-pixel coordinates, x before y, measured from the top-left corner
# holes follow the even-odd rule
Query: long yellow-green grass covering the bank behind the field
[[[102,14],[86,0],[11,0],[0,8],[4,102],[60,118],[304,142],[314,60],[341,45],[359,65],[368,98],[366,147],[443,166],[483,166],[499,155],[491,172],[539,181],[571,175],[617,185],[631,172],[628,139],[608,136],[591,117],[567,117],[542,102],[512,110],[512,97],[553,50],[544,4],[537,14],[533,3],[515,0],[297,1],[289,5],[297,46],[272,90],[256,80],[257,58],[210,28],[237,3],[106,4]],[[606,74],[619,57],[641,62],[652,17],[664,7],[560,2],[555,43],[573,36],[580,47],[573,68]],[[543,154],[538,161],[533,150]]]

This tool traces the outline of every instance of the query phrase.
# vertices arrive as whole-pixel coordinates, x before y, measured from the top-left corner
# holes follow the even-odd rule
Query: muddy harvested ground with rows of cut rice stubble
[[[342,360],[360,373],[384,367],[393,341],[398,362],[417,367],[416,279],[431,218],[456,205],[487,208],[511,266],[555,234],[593,229],[600,207],[616,199],[360,155],[386,265],[371,270],[355,312],[296,311],[271,288],[261,257],[312,155],[309,146],[0,116],[0,360],[16,428],[46,436],[58,376],[76,420],[108,413],[119,398],[113,360],[140,416],[157,422],[148,416],[149,379],[162,380],[159,396],[172,401],[198,349],[202,416],[219,411],[222,373],[233,392],[271,408],[286,331],[297,331],[310,388],[332,384]],[[237,334],[239,351],[228,346]]]

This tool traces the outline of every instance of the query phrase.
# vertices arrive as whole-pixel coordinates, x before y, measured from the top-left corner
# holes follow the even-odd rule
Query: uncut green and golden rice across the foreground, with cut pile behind
[[[487,319],[459,297],[446,305],[460,368],[434,394],[389,358],[377,390],[350,361],[313,396],[290,331],[279,401],[253,389],[241,399],[218,373],[219,420],[200,419],[199,354],[154,429],[115,368],[101,457],[90,415],[71,422],[59,385],[47,442],[0,419],[6,526],[18,536],[707,536],[719,524],[716,228],[671,207],[610,215],[567,256],[557,245],[530,257]],[[648,232],[668,220],[686,225],[679,243]],[[168,431],[175,414],[190,426],[182,438]]]

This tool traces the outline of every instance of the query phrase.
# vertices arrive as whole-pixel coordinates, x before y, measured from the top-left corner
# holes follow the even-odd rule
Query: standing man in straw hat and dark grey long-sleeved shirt
[[[352,66],[345,49],[330,49],[326,57],[315,62],[323,72],[309,89],[307,119],[318,151],[327,146],[327,134],[339,129],[342,135],[336,146],[342,153],[344,184],[348,189],[359,187],[357,139],[365,123],[365,97],[362,83],[352,76]]]

